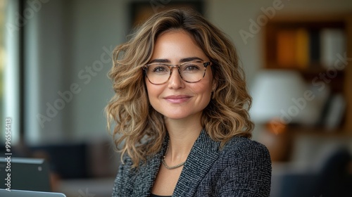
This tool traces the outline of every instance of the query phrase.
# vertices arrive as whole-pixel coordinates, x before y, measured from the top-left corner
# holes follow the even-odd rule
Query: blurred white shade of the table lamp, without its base
[[[283,124],[311,125],[318,119],[315,95],[294,70],[260,70],[250,91],[253,103],[249,113],[253,122],[276,119]]]

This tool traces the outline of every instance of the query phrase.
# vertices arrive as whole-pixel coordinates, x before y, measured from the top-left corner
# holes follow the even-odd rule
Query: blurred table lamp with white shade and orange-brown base
[[[313,96],[307,99],[308,91],[303,78],[294,70],[260,70],[254,78],[249,113],[257,126],[265,125],[258,141],[268,147],[273,161],[289,157],[291,139],[287,125],[315,121],[317,115],[310,100]]]

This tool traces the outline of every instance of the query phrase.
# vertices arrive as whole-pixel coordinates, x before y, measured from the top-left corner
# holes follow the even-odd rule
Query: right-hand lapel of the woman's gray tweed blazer
[[[219,142],[202,131],[189,153],[172,196],[193,196],[196,188],[219,156]]]

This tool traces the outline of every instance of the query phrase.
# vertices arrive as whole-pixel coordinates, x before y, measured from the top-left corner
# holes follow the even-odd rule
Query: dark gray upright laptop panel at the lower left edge
[[[48,163],[41,158],[0,157],[0,189],[51,191]]]

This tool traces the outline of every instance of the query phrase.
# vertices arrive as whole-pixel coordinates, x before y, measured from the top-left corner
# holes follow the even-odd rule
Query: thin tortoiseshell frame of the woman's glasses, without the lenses
[[[201,77],[200,80],[196,81],[196,82],[200,82],[204,76],[206,76],[206,68],[209,66],[209,65],[212,65],[212,63],[210,61],[188,61],[188,62],[184,62],[184,63],[180,63],[180,64],[166,64],[166,63],[151,63],[151,64],[147,64],[147,65],[144,65],[143,66],[143,70],[144,70],[144,74],[146,75],[146,78],[148,79],[149,82],[151,82],[151,80],[149,80],[149,77],[148,75],[146,74],[148,68],[150,65],[166,65],[169,70],[170,70],[170,75],[168,77],[168,80],[166,80],[165,82],[163,83],[153,83],[151,82],[151,84],[154,84],[154,85],[161,85],[161,84],[165,84],[167,83],[169,80],[170,80],[170,77],[172,75],[172,70],[173,68],[177,68],[177,71],[178,71],[178,74],[180,75],[181,79],[184,80],[184,78],[182,77],[181,75],[181,72],[180,72],[180,67],[184,64],[187,64],[187,63],[203,63],[203,66],[204,66],[204,73],[203,73],[203,77]],[[187,83],[196,83],[196,82],[189,82],[187,80],[184,80],[184,82],[187,82]]]

